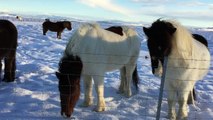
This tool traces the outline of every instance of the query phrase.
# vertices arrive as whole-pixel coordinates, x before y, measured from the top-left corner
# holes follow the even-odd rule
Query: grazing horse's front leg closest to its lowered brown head
[[[93,103],[92,97],[92,77],[89,75],[83,75],[84,81],[84,102],[82,104],[83,107],[88,107]]]

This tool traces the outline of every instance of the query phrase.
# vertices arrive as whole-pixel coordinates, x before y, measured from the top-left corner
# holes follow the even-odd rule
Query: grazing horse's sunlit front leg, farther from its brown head
[[[94,76],[95,90],[98,97],[97,106],[94,109],[96,112],[105,111],[105,100],[104,100],[104,74],[100,76]]]

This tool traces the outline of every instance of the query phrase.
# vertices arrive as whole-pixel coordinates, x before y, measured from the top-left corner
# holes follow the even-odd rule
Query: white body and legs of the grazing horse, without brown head
[[[90,106],[93,103],[92,79],[94,80],[98,97],[95,111],[105,110],[105,72],[120,69],[119,92],[127,97],[132,95],[131,80],[136,70],[140,40],[132,28],[122,27],[122,29],[123,35],[121,36],[102,29],[98,24],[83,24],[70,38],[64,52],[63,58],[79,57],[81,60],[79,62],[83,63],[81,72],[84,81],[83,106]]]

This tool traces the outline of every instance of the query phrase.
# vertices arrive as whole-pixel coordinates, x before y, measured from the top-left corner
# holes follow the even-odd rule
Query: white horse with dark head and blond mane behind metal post
[[[150,28],[143,27],[143,30],[148,38],[154,74],[162,74],[164,57],[168,57],[165,76],[168,117],[172,120],[186,120],[189,94],[196,81],[207,74],[210,66],[209,50],[201,43],[203,40],[195,40],[185,27],[175,21],[157,20]],[[179,104],[177,118],[176,101]]]

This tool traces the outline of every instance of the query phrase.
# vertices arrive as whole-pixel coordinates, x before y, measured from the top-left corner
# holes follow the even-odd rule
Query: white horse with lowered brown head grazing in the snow
[[[84,80],[83,106],[92,105],[92,78],[98,101],[95,111],[105,110],[104,75],[120,69],[119,93],[130,97],[131,81],[138,88],[136,63],[140,51],[137,33],[122,27],[123,35],[102,29],[98,24],[82,25],[70,38],[59,63],[61,114],[70,117],[80,95],[80,76]]]

